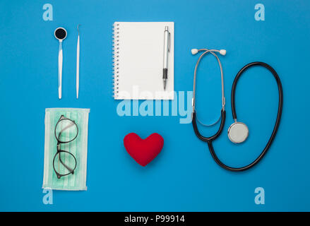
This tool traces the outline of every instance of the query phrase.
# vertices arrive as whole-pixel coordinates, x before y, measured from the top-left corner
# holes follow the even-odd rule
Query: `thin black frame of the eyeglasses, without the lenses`
[[[70,141],[59,141],[59,138],[61,136],[61,131],[59,132],[59,137],[56,136],[57,125],[62,120],[72,121],[73,124],[76,126],[76,136],[73,139],[71,139]],[[61,114],[61,117],[59,118],[59,120],[57,121],[57,123],[55,125],[54,134],[55,134],[55,138],[56,138],[56,141],[57,141],[57,146],[56,146],[57,147],[57,152],[56,152],[56,154],[54,155],[54,158],[53,158],[53,168],[54,168],[54,172],[56,173],[57,178],[60,179],[61,177],[68,176],[69,174],[74,174],[74,170],[76,169],[76,164],[77,164],[76,157],[72,153],[69,153],[66,150],[61,150],[61,144],[70,143],[70,142],[72,142],[72,141],[74,141],[76,139],[76,137],[78,136],[78,125],[76,124],[76,121],[73,121],[73,120],[71,120],[71,119],[69,119],[67,117],[64,117],[64,114]],[[66,164],[64,164],[64,162],[62,162],[60,153],[67,153],[67,154],[69,154],[69,155],[71,155],[73,157],[74,161],[76,162],[76,164],[75,164],[73,169],[71,169]],[[55,162],[55,158],[56,158],[57,155],[59,155],[59,162],[61,162],[61,165],[63,165],[64,167],[66,167],[66,169],[68,169],[69,172],[67,174],[59,174],[59,172],[57,172],[57,170],[55,169],[54,162]]]

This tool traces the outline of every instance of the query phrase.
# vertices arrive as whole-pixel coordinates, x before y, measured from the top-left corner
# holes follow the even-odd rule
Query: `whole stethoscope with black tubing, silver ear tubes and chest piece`
[[[256,158],[256,160],[254,160],[253,162],[251,162],[249,165],[246,165],[244,167],[229,167],[228,165],[225,165],[215,154],[214,148],[213,148],[213,144],[212,142],[218,137],[220,136],[220,134],[222,133],[222,130],[224,128],[224,124],[225,124],[225,119],[226,119],[226,112],[225,112],[225,95],[224,95],[224,78],[223,78],[223,71],[222,71],[222,64],[220,63],[220,59],[217,57],[216,52],[220,53],[221,55],[225,56],[226,54],[226,50],[225,49],[191,49],[191,53],[192,54],[197,54],[198,52],[203,52],[201,54],[201,56],[198,58],[198,61],[196,63],[195,66],[195,71],[193,73],[193,101],[192,101],[192,105],[193,105],[193,113],[192,113],[192,124],[193,124],[193,130],[196,133],[196,136],[198,136],[199,139],[201,139],[201,141],[204,141],[206,143],[208,143],[208,147],[210,150],[210,153],[213,157],[213,159],[215,160],[215,162],[220,165],[220,167],[227,169],[229,171],[232,172],[241,172],[244,171],[246,169],[250,169],[251,167],[254,167],[254,165],[256,165],[262,158],[264,155],[266,155],[268,149],[270,148],[270,145],[273,143],[273,140],[275,138],[275,134],[278,131],[278,127],[280,125],[280,119],[281,119],[281,114],[282,114],[282,104],[283,104],[283,91],[282,91],[282,84],[280,81],[280,78],[278,76],[278,73],[268,64],[263,63],[263,62],[252,62],[250,64],[246,64],[246,66],[244,66],[238,73],[237,76],[234,78],[234,83],[232,83],[232,117],[234,119],[234,123],[229,126],[228,129],[228,138],[230,141],[232,141],[233,143],[242,143],[246,140],[246,138],[249,136],[249,129],[246,126],[246,124],[237,121],[237,114],[236,114],[236,107],[235,107],[235,98],[234,98],[234,94],[236,91],[236,86],[237,86],[237,82],[239,81],[239,78],[242,76],[242,73],[244,73],[244,71],[246,71],[247,69],[249,69],[252,66],[263,66],[266,69],[268,69],[271,73],[273,73],[273,76],[275,77],[275,80],[277,81],[278,84],[278,91],[279,91],[279,104],[278,104],[278,114],[277,114],[277,119],[275,120],[275,126],[273,128],[273,133],[271,133],[271,136],[268,140],[268,143],[266,144],[265,148],[263,149],[263,151],[261,152],[261,154]],[[217,59],[218,65],[220,66],[220,73],[221,73],[221,81],[222,81],[222,109],[221,109],[221,113],[220,113],[220,118],[215,121],[214,124],[217,124],[218,121],[220,121],[220,128],[217,130],[217,132],[210,137],[205,137],[202,136],[201,133],[199,133],[198,131],[198,127],[197,127],[197,123],[196,121],[198,121],[200,124],[202,124],[203,126],[212,126],[214,124],[210,124],[210,125],[206,125],[201,123],[201,121],[197,118],[197,113],[196,113],[196,109],[195,109],[195,93],[196,93],[196,75],[197,75],[197,68],[198,65],[201,61],[201,59],[203,58],[203,56],[205,56],[205,54],[213,54],[213,56]]]

